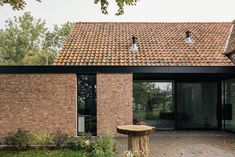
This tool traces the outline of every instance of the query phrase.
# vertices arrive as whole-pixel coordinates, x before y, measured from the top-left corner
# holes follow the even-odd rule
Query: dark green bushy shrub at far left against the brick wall
[[[4,141],[6,145],[11,145],[17,150],[25,150],[29,146],[29,133],[24,129],[18,129],[16,132],[10,132]]]

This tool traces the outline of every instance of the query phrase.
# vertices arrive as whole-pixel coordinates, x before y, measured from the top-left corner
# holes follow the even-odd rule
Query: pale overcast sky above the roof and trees
[[[140,0],[137,6],[126,6],[125,15],[115,16],[115,0],[110,0],[109,15],[102,15],[94,0],[27,0],[23,11],[0,6],[0,28],[10,17],[30,11],[46,20],[47,26],[67,21],[109,22],[230,22],[235,19],[235,0]]]

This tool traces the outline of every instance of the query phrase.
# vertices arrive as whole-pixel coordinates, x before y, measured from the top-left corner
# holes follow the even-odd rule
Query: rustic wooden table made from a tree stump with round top
[[[149,157],[149,134],[155,128],[147,125],[117,126],[117,132],[128,135],[128,150],[141,157]]]

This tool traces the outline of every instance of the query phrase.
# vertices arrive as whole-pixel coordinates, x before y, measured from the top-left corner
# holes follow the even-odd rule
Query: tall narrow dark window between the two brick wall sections
[[[96,75],[78,75],[78,116],[85,132],[96,134]]]

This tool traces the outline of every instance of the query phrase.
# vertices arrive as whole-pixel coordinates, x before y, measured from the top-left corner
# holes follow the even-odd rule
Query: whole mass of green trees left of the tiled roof
[[[0,65],[48,65],[62,48],[73,24],[49,31],[45,21],[29,12],[6,21],[0,29]]]

